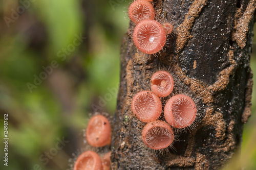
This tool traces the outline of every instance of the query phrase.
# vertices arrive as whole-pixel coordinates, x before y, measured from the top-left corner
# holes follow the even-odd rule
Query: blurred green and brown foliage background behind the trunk
[[[67,169],[82,148],[89,113],[114,113],[128,4],[0,0],[1,137],[4,114],[9,115],[9,161],[3,165],[1,142],[0,169]],[[256,72],[256,48],[252,51]],[[248,169],[256,169],[255,97],[254,86],[242,143],[241,162]],[[68,143],[56,150],[63,137]]]

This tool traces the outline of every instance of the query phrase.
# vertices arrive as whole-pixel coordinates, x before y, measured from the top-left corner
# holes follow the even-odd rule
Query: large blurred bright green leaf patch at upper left
[[[81,32],[81,12],[78,0],[36,1],[41,20],[50,34],[50,47],[57,54],[63,47],[73,43],[75,34]],[[56,57],[56,56],[55,56]]]

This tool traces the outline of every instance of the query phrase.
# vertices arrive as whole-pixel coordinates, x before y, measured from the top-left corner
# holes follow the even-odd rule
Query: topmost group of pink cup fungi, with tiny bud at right
[[[152,0],[136,0],[129,7],[129,17],[136,24],[133,41],[137,48],[145,54],[155,54],[162,50],[166,42],[166,34],[173,31],[171,23],[159,23],[154,20],[155,9]]]

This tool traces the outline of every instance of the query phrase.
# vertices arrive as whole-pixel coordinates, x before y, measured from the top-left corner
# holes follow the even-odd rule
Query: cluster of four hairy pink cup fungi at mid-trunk
[[[157,71],[151,78],[151,91],[140,91],[133,97],[132,111],[141,122],[147,123],[142,130],[144,144],[153,150],[163,150],[175,139],[174,130],[186,130],[192,126],[197,116],[194,101],[184,94],[173,95],[164,106],[164,120],[159,120],[162,114],[162,102],[174,89],[174,79],[167,71]]]

